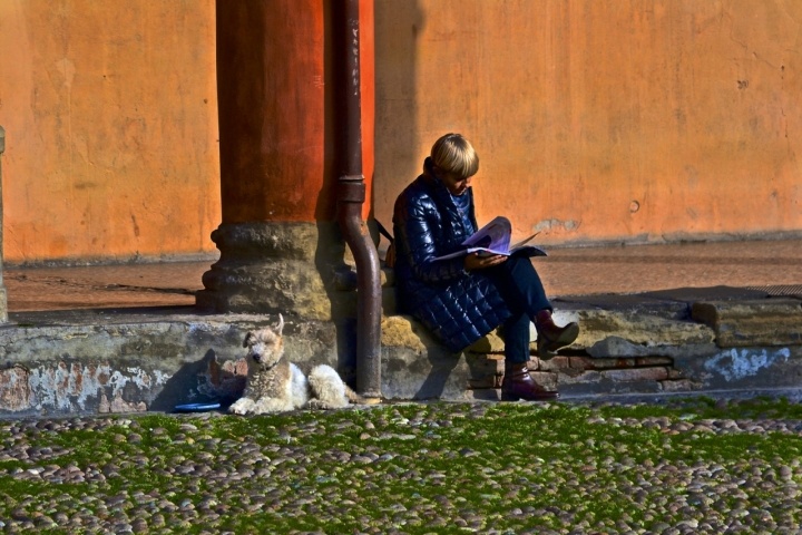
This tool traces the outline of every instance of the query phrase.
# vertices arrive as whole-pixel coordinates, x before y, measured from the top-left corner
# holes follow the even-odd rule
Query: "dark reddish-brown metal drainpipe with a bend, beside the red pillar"
[[[379,253],[362,221],[362,96],[360,93],[359,0],[345,2],[345,174],[338,184],[338,220],[356,261],[356,391],[381,398],[381,281]]]

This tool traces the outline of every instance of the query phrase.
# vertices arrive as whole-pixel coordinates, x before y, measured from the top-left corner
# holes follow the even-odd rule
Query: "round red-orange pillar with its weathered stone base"
[[[372,0],[362,17],[363,169],[373,174]],[[329,320],[353,294],[336,226],[341,174],[339,2],[217,1],[217,98],[223,221],[221,259],[203,276],[199,308]],[[365,105],[366,104],[366,105]],[[370,198],[370,194],[368,195]],[[369,206],[363,207],[368,214]],[[346,307],[348,304],[343,304]]]

